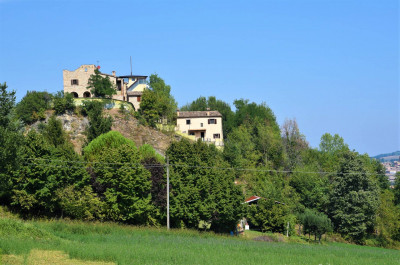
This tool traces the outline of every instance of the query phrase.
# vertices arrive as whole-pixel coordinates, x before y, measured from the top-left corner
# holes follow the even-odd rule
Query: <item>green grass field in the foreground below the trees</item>
[[[400,251],[0,217],[2,264],[400,264]],[[90,261],[90,262],[89,262]]]

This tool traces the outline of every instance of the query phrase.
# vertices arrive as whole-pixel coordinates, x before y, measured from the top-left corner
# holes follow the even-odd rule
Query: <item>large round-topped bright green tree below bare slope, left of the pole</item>
[[[150,173],[141,165],[133,141],[111,131],[90,142],[84,155],[92,186],[105,204],[105,219],[137,225],[157,223]]]

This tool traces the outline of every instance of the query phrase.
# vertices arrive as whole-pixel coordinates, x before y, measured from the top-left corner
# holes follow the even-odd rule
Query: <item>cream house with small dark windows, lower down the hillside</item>
[[[222,115],[218,111],[177,111],[176,131],[223,146]]]

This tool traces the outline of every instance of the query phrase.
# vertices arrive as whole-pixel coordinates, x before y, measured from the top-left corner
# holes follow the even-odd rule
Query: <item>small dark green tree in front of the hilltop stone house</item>
[[[89,77],[87,89],[98,98],[111,98],[117,94],[114,84],[108,76],[103,77],[100,70],[95,69],[94,74]]]

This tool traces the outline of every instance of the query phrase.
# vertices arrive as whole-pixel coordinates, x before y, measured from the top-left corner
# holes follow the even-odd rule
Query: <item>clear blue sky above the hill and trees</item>
[[[265,102],[377,155],[400,150],[398,1],[0,0],[0,82],[63,89],[62,70],[159,74],[180,106]]]

